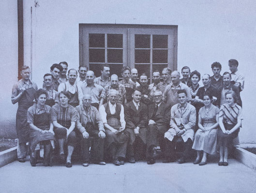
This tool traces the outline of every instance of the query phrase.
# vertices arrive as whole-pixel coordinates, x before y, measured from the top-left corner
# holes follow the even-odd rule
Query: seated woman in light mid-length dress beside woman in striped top
[[[206,165],[207,154],[217,152],[217,127],[219,125],[219,109],[212,104],[212,96],[205,93],[203,97],[204,107],[199,110],[198,127],[192,149],[197,151],[194,164]],[[201,159],[201,152],[203,158]]]

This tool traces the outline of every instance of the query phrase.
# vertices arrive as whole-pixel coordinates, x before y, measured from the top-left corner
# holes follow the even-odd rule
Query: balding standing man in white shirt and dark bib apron
[[[77,78],[77,71],[75,69],[68,70],[68,81],[66,83],[60,83],[58,92],[67,91],[69,92],[71,98],[69,100],[69,105],[76,107],[82,104],[83,92],[80,86],[75,84]]]

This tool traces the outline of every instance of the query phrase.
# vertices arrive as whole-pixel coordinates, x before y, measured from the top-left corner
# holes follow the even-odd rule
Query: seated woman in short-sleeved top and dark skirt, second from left
[[[68,155],[66,159],[66,167],[72,167],[71,156],[76,144],[75,122],[76,109],[68,104],[70,95],[67,91],[61,91],[59,94],[60,104],[52,107],[51,117],[54,125],[55,138],[58,140],[60,148],[60,159],[65,161],[64,143],[67,139]]]

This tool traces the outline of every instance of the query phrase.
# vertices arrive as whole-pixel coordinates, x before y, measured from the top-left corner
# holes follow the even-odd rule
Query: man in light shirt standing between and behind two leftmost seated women
[[[45,105],[49,105],[52,107],[55,105],[55,103],[58,103],[59,98],[58,98],[58,92],[53,89],[53,77],[51,74],[45,74],[44,76],[44,85],[45,87],[43,88],[47,92],[47,98]]]

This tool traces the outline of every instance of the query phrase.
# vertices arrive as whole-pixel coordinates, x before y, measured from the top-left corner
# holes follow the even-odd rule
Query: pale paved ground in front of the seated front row
[[[1,193],[255,193],[256,171],[230,159],[204,166],[74,164],[31,167],[17,161],[0,168]]]

